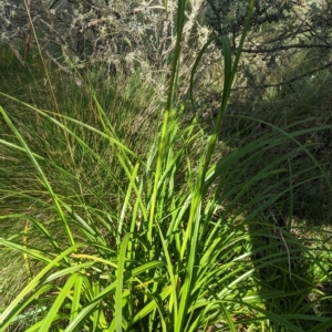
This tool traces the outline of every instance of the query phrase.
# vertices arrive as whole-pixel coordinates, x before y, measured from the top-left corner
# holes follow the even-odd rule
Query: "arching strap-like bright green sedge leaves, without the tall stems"
[[[39,110],[35,112],[43,117],[50,116]],[[4,112],[2,114],[6,116]],[[56,117],[52,115],[50,120]],[[6,118],[14,131],[10,120]],[[68,121],[76,125],[74,118]],[[69,123],[65,126],[68,132]],[[84,123],[80,125],[96,131]],[[287,170],[280,168],[282,159],[279,159],[246,181],[240,174],[250,172],[250,158],[263,154],[261,146],[282,144],[287,137],[279,136],[279,142],[271,135],[263,137],[214,164],[203,184],[203,193],[210,191],[209,196],[201,199],[194,229],[188,234],[195,197],[193,180],[199,168],[190,158],[183,160],[181,156],[189,156],[194,141],[199,139],[200,132],[193,136],[193,126],[180,128],[178,115],[170,114],[163,148],[156,145],[139,165],[134,154],[131,154],[132,163],[127,164],[128,151],[120,142],[114,142],[112,152],[117,154],[124,172],[129,169],[128,180],[125,190],[118,194],[122,197],[120,204],[105,203],[103,214],[80,191],[69,197],[56,190],[51,191],[51,199],[59,205],[58,214],[53,211],[54,219],[31,218],[28,212],[2,217],[22,227],[10,240],[2,238],[2,246],[7,250],[21,251],[22,257],[27,253],[24,260],[28,263],[42,262],[40,270],[32,269],[27,287],[4,310],[3,328],[10,321],[23,323],[28,320],[31,323],[37,319],[31,329],[58,326],[70,331],[95,325],[113,330],[117,324],[124,330],[166,331],[166,326],[172,325],[173,330],[196,331],[218,323],[234,331],[258,326],[273,329],[277,325],[303,331],[302,320],[319,319],[312,314],[317,303],[307,303],[307,297],[318,282],[308,278],[308,273],[309,266],[315,263],[321,274],[326,276],[324,267],[287,229],[261,219],[261,211],[277,201],[282,193],[272,195],[273,185],[270,185],[245,206],[242,201],[255,183]],[[15,134],[22,138],[19,132]],[[101,139],[111,138],[103,132],[98,134]],[[86,157],[103,162],[84,142],[80,144],[84,146]],[[181,147],[178,149],[178,146]],[[20,148],[18,145],[12,147]],[[29,152],[29,146],[27,148]],[[163,153],[163,165],[157,197],[154,198],[158,149]],[[35,153],[30,163],[33,160],[38,169],[43,164],[42,156]],[[62,177],[76,178],[76,188],[83,187],[74,174],[56,164],[50,166],[50,169],[58,168]],[[113,170],[106,165],[103,167],[112,176]],[[43,177],[44,170],[39,169],[39,178],[46,186],[50,177]],[[51,174],[50,170],[46,174]],[[176,184],[179,177],[183,178],[181,186]],[[84,187],[93,191],[87,185]],[[33,200],[33,191],[27,191],[25,197]],[[12,197],[20,195],[11,193]],[[46,206],[49,198],[46,193],[44,195],[45,198],[39,199]],[[54,207],[54,203],[49,205],[50,209]],[[152,216],[153,224],[149,222]],[[29,242],[23,243],[27,218],[30,220],[25,235]],[[52,224],[56,225],[58,234],[54,229],[52,234]],[[65,225],[70,225],[69,230]],[[188,247],[184,247],[186,237]],[[193,237],[196,237],[196,243],[193,243]],[[181,304],[188,269],[193,269],[189,298]],[[38,292],[32,291],[35,287]],[[22,312],[24,317],[20,315]],[[177,325],[179,314],[184,320],[181,326]]]

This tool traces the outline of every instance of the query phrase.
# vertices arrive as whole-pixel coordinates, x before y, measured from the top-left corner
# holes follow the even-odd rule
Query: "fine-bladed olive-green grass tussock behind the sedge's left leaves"
[[[149,149],[151,137],[154,137],[158,127],[155,107],[158,107],[162,102],[153,94],[153,87],[149,87],[145,77],[138,72],[129,79],[117,75],[113,79],[112,86],[92,82],[92,73],[90,73],[85,77],[85,83],[81,77],[82,84],[79,86],[76,74],[63,75],[50,66],[49,74],[53,77],[52,91],[56,94],[56,104],[54,104],[51,97],[52,91],[48,84],[44,84],[42,68],[27,69],[27,81],[22,85],[21,80],[25,79],[24,75],[10,75],[10,71],[12,74],[15,73],[17,65],[18,63],[12,63],[8,69],[8,80],[6,81],[8,90],[1,86],[2,92],[13,92],[11,97],[2,96],[1,100],[4,101],[2,105],[10,110],[11,120],[30,148],[42,157],[39,163],[48,175],[53,190],[61,193],[61,197],[66,198],[71,209],[87,214],[85,206],[90,206],[95,211],[95,217],[112,220],[114,217],[112,214],[118,204],[118,193],[123,193],[126,180],[125,173],[117,166],[117,163],[114,164],[114,153],[110,142],[103,141],[93,131],[89,132],[81,125],[71,124],[73,133],[80,136],[86,146],[96,152],[94,156],[97,159],[94,159],[89,153],[85,153],[86,148],[68,135],[61,126],[48,117],[29,111],[27,105],[17,103],[17,100],[33,101],[30,105],[41,108],[56,110],[58,107],[59,113],[62,114],[61,124],[65,124],[65,116],[70,116],[101,129],[103,124],[97,120],[98,106],[95,104],[97,98],[107,121],[116,127],[116,135],[121,135],[123,143],[135,149],[137,155],[146,154],[146,149]],[[6,73],[2,72],[2,74]],[[15,86],[24,86],[24,89],[15,92]],[[12,148],[11,144],[18,143],[17,137],[6,125],[3,117],[0,122],[1,138],[9,144],[2,145],[0,152],[2,215],[28,214],[33,216],[38,220],[42,220],[50,235],[59,242],[65,242],[64,232],[59,228],[59,218],[54,215],[53,205],[49,201],[45,187],[39,180],[35,167],[27,159],[24,152]],[[110,135],[110,132],[105,135]],[[61,169],[65,169],[65,172],[61,172]],[[108,169],[108,173],[112,169],[112,176],[108,176],[105,169]],[[18,189],[21,191],[17,193],[19,195],[11,193],[15,188],[21,188],[22,191]],[[112,211],[110,210],[111,206],[113,206]],[[28,246],[42,248],[45,252],[54,249],[52,245],[49,246],[49,242],[44,242],[37,231],[30,229],[32,221],[29,221],[28,217],[21,221],[11,218],[3,218],[3,220],[6,221],[1,225],[2,237],[11,238],[13,235],[22,234],[28,225]],[[112,221],[110,222],[112,224]],[[71,227],[76,229],[75,225],[71,225]],[[108,238],[106,229],[103,228],[100,231]],[[76,231],[76,236],[81,236],[79,231]],[[20,243],[22,243],[23,237],[23,234],[19,236]],[[9,261],[10,264],[8,264]],[[14,294],[18,294],[15,290],[29,281],[23,261],[22,256],[9,255],[7,251],[1,255],[1,262],[7,267],[1,271],[0,307],[2,308],[6,308]],[[31,269],[33,270],[33,264]],[[20,276],[20,278],[14,278],[14,276]]]

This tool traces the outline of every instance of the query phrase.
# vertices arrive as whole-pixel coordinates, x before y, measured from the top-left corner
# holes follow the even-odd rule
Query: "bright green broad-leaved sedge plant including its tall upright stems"
[[[32,148],[42,137],[24,132],[0,107],[1,124],[9,129],[0,141],[6,166],[24,163],[25,183],[34,179],[28,187],[22,177],[21,187],[9,183],[1,188],[0,201],[10,208],[0,218],[14,227],[0,237],[0,255],[20,256],[27,281],[1,309],[0,331],[300,332],[305,328],[314,332],[332,326],[329,315],[315,311],[329,297],[321,292],[317,300],[308,300],[310,293],[320,292],[322,281],[312,269],[329,281],[329,267],[295,238],[291,222],[273,224],[264,217],[283,195],[291,207],[294,188],[312,179],[293,184],[293,177],[317,168],[324,176],[299,139],[303,131],[267,124],[268,134],[216,157],[253,4],[251,0],[234,61],[228,38],[220,39],[225,83],[208,137],[197,120],[184,126],[185,110],[174,105],[185,1],[178,1],[177,42],[160,131],[146,143],[145,154],[123,143],[89,84],[93,122],[11,98],[48,128],[56,128],[53,133],[72,152],[70,163]],[[205,49],[194,64],[191,96]],[[294,149],[251,170],[268,151],[289,141]],[[299,151],[312,163],[292,170],[290,160]],[[7,174],[4,167],[0,172]],[[101,190],[92,185],[93,176],[110,186]]]

